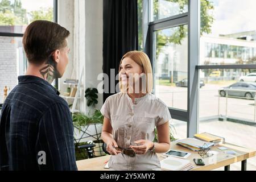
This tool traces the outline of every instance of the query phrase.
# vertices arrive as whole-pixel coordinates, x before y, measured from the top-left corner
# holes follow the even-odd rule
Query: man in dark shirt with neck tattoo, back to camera
[[[68,36],[46,20],[26,28],[27,72],[2,107],[0,170],[77,170],[71,113],[51,85],[68,64]]]

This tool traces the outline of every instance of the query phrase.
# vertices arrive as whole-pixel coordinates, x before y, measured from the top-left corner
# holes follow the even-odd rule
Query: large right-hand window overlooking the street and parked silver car
[[[201,6],[197,66],[203,84],[198,132],[247,148],[256,148],[256,140],[249,137],[256,135],[255,6],[251,0],[211,0],[204,5],[206,9]],[[255,158],[249,159],[248,169],[255,170],[255,163]]]

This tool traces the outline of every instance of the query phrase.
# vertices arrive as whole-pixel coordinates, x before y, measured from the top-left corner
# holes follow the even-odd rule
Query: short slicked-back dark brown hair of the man
[[[42,64],[56,49],[67,46],[70,32],[57,23],[36,20],[28,25],[23,35],[23,47],[30,63]]]

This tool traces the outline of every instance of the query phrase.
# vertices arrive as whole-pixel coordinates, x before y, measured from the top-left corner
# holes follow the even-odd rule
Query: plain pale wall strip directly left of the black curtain
[[[95,87],[103,65],[103,0],[85,1],[85,60],[86,88]],[[98,94],[98,109],[103,104],[103,94]],[[88,110],[88,109],[87,109]]]

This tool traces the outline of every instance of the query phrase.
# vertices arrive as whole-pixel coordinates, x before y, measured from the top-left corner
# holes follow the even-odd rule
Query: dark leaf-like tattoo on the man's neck
[[[44,65],[42,69],[40,69],[40,73],[43,76],[44,80],[48,81],[50,84],[55,78],[59,78],[60,74],[56,69],[56,62],[53,61],[52,55],[49,56],[48,61]]]

